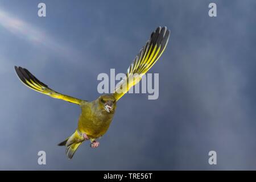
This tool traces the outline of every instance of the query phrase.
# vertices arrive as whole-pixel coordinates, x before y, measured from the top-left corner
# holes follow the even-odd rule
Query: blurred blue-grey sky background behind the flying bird
[[[37,15],[40,2],[46,18]],[[0,169],[256,169],[255,7],[249,0],[0,1]],[[150,70],[159,73],[158,100],[126,94],[101,146],[83,143],[67,160],[57,143],[76,129],[80,108],[26,88],[14,65],[57,92],[94,100],[97,75],[125,72],[158,26],[171,30]],[[216,166],[208,164],[211,150]]]

